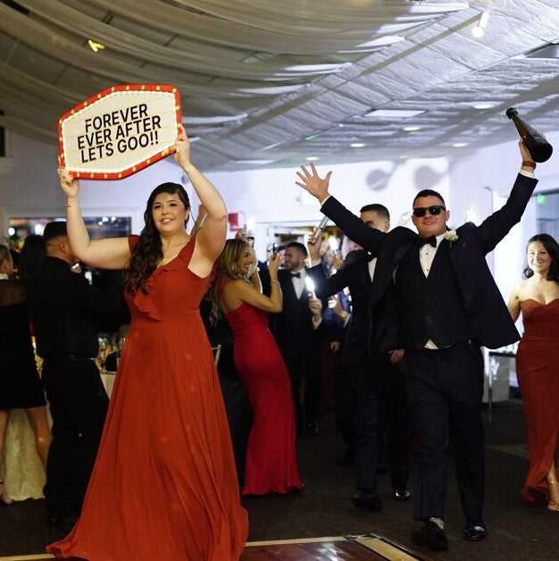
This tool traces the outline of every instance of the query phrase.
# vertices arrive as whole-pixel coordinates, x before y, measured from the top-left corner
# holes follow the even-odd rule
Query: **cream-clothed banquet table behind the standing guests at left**
[[[114,374],[101,373],[101,380],[109,397],[113,391]],[[49,423],[52,423],[50,414],[48,419]],[[14,500],[44,497],[45,470],[35,448],[35,436],[23,409],[12,409],[10,412],[4,458],[0,458],[0,461],[4,462],[5,488]]]

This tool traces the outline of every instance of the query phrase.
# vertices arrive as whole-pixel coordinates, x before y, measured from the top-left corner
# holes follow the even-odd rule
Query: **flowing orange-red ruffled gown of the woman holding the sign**
[[[137,239],[130,239],[133,247]],[[194,238],[126,298],[126,338],[79,522],[47,548],[89,561],[229,561],[247,534]]]

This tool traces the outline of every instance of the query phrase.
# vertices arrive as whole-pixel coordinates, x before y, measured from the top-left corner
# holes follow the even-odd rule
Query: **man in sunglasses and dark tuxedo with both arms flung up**
[[[449,421],[456,444],[456,480],[466,525],[466,540],[483,540],[485,460],[481,401],[483,357],[480,346],[503,347],[519,339],[485,256],[521,215],[536,187],[536,163],[520,141],[522,158],[505,205],[479,227],[471,222],[448,230],[443,198],[430,189],[413,200],[413,224],[388,234],[367,228],[328,192],[330,174],[320,178],[302,167],[297,185],[321,202],[321,212],[346,235],[378,255],[371,306],[395,291],[396,314],[405,341],[401,368],[421,465],[415,487],[414,518],[423,522],[412,532],[416,543],[446,549],[446,446]],[[426,243],[426,245],[423,245]]]

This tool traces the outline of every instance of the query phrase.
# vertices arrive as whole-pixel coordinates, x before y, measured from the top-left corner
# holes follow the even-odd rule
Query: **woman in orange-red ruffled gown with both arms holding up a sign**
[[[198,304],[227,231],[227,209],[190,162],[181,128],[175,160],[204,205],[188,235],[188,196],[176,183],[150,195],[139,237],[90,240],[78,181],[60,168],[74,253],[125,270],[132,316],[103,439],[79,522],[47,550],[90,561],[238,559],[247,532],[229,430]]]

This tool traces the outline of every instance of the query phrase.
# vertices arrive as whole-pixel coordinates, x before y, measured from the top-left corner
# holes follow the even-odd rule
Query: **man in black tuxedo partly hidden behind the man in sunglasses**
[[[387,232],[390,228],[390,214],[384,205],[365,205],[360,211],[361,221],[377,230]],[[352,298],[352,313],[348,318],[346,339],[342,356],[343,373],[346,376],[349,402],[355,429],[355,488],[352,498],[355,507],[380,510],[382,502],[377,490],[377,464],[379,459],[380,397],[388,398],[390,414],[390,473],[393,498],[406,500],[410,493],[406,490],[410,463],[409,429],[403,375],[396,363],[402,350],[396,350],[396,340],[389,352],[378,353],[377,345],[371,344],[371,329],[375,318],[382,316],[381,306],[373,313],[369,308],[369,295],[374,282],[377,259],[364,249],[350,252],[346,264],[335,275],[326,279],[319,263],[319,243],[309,244],[313,268],[309,274],[317,283],[318,297],[328,297],[339,290],[349,288]],[[315,265],[315,263],[317,263]],[[386,389],[386,391],[384,391]]]

